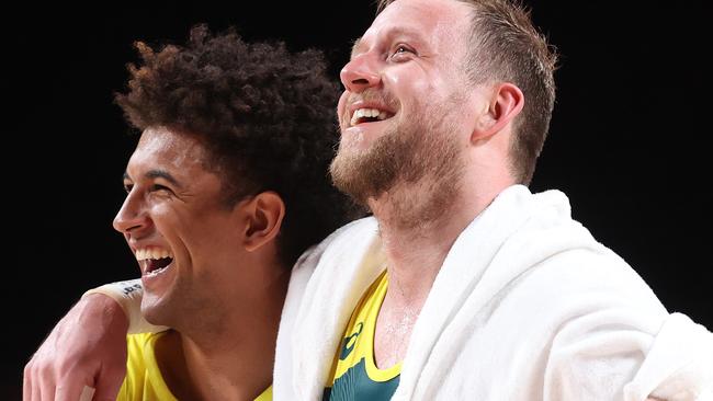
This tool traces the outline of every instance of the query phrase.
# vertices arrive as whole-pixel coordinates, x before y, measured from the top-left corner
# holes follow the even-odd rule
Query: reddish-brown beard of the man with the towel
[[[335,186],[363,206],[388,196],[392,216],[405,228],[437,220],[452,206],[463,175],[451,118],[448,113],[421,113],[364,150],[350,151],[340,142],[329,167]]]

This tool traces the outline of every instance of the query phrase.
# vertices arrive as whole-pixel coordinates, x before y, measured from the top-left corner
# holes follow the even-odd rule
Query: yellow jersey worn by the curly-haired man
[[[117,401],[177,401],[156,362],[156,341],[165,332],[126,336],[126,377],[118,390]],[[272,386],[254,401],[272,401]]]

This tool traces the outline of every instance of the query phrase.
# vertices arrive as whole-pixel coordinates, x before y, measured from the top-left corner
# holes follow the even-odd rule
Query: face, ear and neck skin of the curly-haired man
[[[157,359],[179,399],[244,400],[272,382],[274,343],[290,272],[275,236],[284,204],[265,192],[226,206],[201,141],[162,127],[142,135],[114,219],[134,253],[170,252],[160,274],[139,261],[142,311],[173,328]],[[236,360],[245,363],[236,364]]]

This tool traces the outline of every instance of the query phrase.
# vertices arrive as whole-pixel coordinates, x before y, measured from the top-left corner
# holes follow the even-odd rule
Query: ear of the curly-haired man
[[[275,192],[261,192],[244,208],[246,213],[245,249],[253,252],[272,241],[282,227],[285,204]]]

